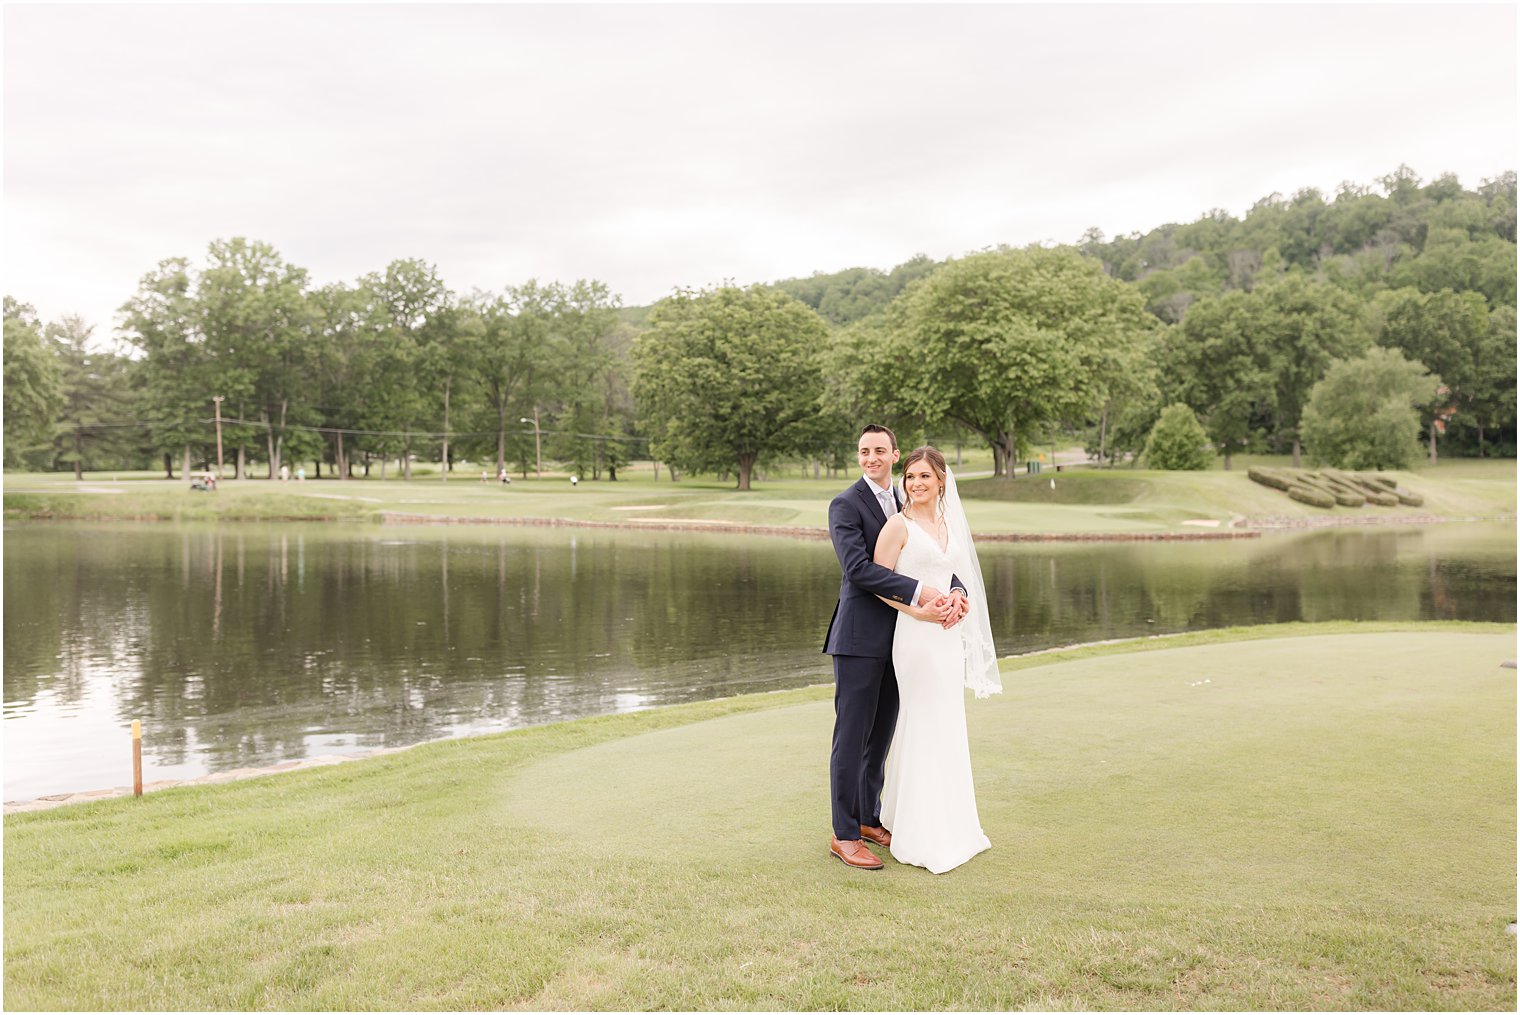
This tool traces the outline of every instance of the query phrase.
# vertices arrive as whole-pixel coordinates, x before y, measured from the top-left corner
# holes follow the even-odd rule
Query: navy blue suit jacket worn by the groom
[[[876,489],[865,477],[828,501],[828,538],[834,542],[842,573],[839,603],[824,640],[824,652],[828,655],[892,658],[897,611],[877,596],[910,603],[918,579],[898,574],[872,559],[885,524],[886,515],[876,500]]]

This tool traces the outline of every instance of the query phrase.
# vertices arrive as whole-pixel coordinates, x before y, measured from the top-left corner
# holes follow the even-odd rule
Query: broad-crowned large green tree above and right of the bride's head
[[[883,400],[979,433],[994,474],[1012,476],[1040,430],[1097,415],[1116,349],[1154,327],[1143,296],[1091,258],[1031,246],[950,261],[909,287],[872,353]]]

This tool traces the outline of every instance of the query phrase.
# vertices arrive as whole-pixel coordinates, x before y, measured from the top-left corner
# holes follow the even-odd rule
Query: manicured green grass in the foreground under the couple
[[[827,687],[12,816],[6,1001],[1511,1010],[1514,629],[1391,628],[1005,664],[942,877],[827,854]]]

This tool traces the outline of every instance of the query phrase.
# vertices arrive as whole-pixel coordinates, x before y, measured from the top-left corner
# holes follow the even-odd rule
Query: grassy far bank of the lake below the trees
[[[1274,459],[1275,460],[1275,459]],[[1421,492],[1424,506],[1322,511],[1252,483],[1237,471],[1155,473],[1067,470],[1014,480],[968,477],[971,527],[982,533],[1169,533],[1318,520],[1493,518],[1515,512],[1515,463],[1455,462],[1418,473],[1394,473]],[[226,482],[216,494],[150,476],[8,474],[6,518],[170,518],[378,521],[385,512],[438,518],[564,518],[599,523],[751,524],[822,529],[830,497],[850,479],[775,479],[740,494],[714,479],[655,480],[634,470],[617,483],[572,488],[564,477],[480,483],[468,474],[401,480]]]

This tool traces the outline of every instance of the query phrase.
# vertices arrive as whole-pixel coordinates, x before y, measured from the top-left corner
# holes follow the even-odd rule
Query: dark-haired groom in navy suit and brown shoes
[[[901,511],[892,488],[892,463],[901,453],[891,430],[871,424],[860,430],[856,454],[863,476],[828,504],[828,536],[844,571],[824,641],[824,652],[834,656],[834,743],[828,755],[834,837],[828,849],[847,866],[877,871],[882,860],[863,840],[892,845],[892,834],[882,828],[882,781],[897,726],[897,611],[877,596],[926,606],[945,628],[961,621],[967,603],[955,576],[950,594],[942,594],[874,562],[882,526]]]

